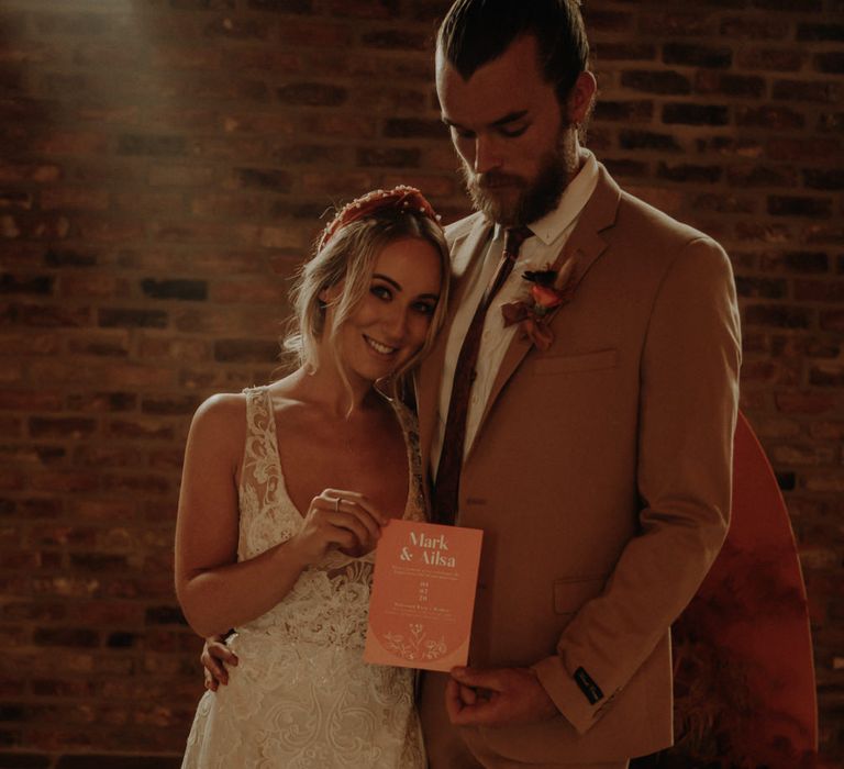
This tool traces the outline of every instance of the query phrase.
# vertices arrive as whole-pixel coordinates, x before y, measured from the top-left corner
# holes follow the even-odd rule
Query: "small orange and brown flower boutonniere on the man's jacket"
[[[545,352],[554,342],[554,332],[548,327],[549,314],[560,304],[571,300],[575,293],[573,278],[574,259],[568,259],[563,268],[528,270],[522,278],[531,285],[526,299],[509,302],[501,307],[504,326],[519,324],[522,338],[529,338],[537,349]]]

